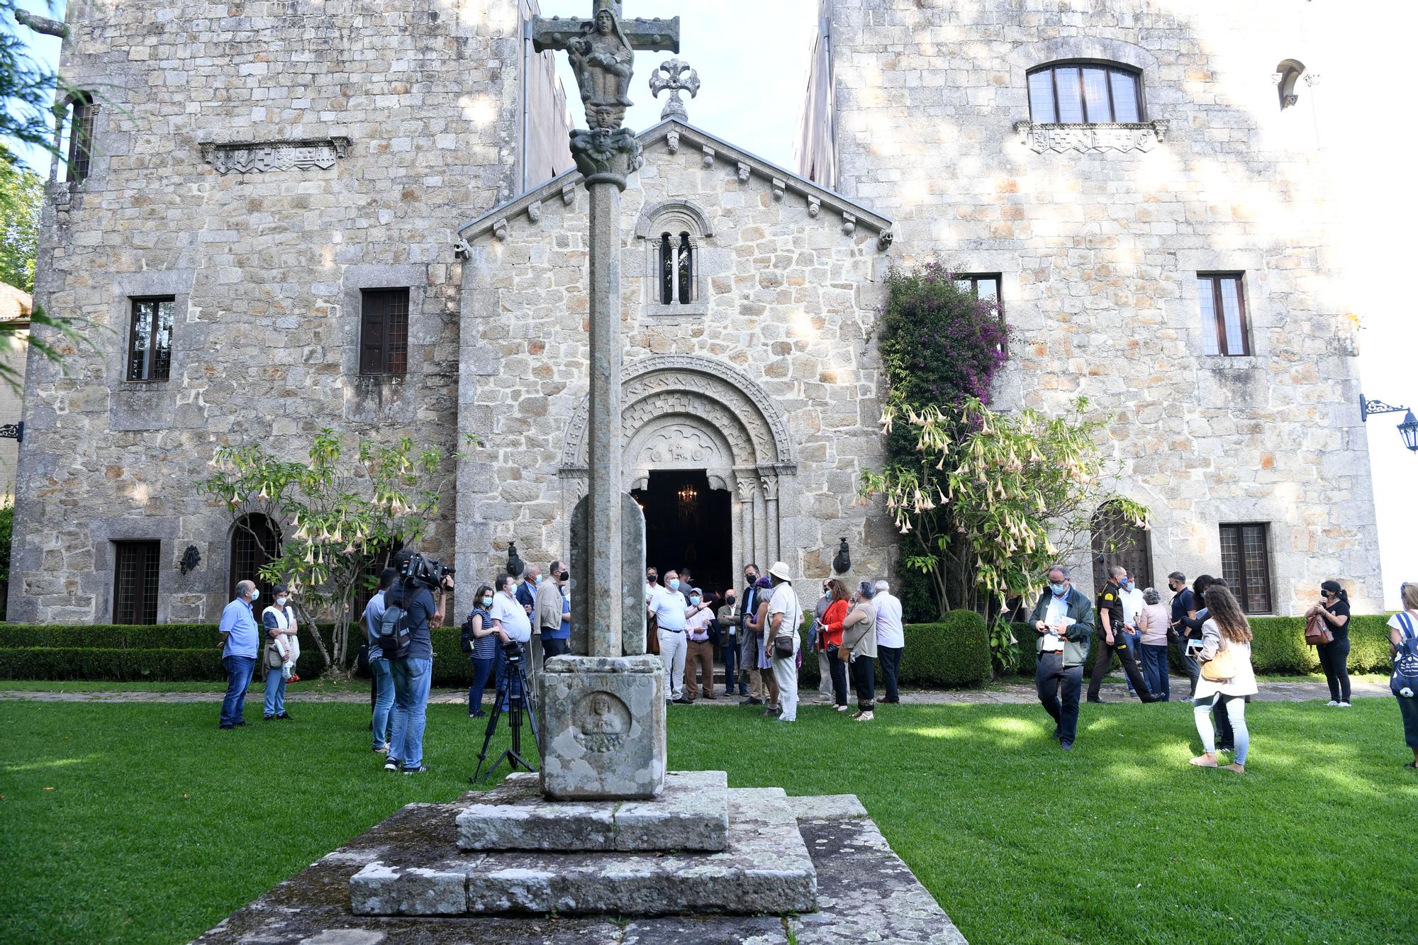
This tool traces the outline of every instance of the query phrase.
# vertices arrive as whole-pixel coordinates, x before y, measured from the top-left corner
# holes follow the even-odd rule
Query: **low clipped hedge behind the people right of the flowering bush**
[[[1320,668],[1314,647],[1305,643],[1305,617],[1251,617],[1251,661],[1256,673],[1303,675]],[[1100,631],[1093,634],[1088,647],[1088,663],[1093,665]],[[1038,634],[1024,623],[1014,624],[1014,637],[1024,650],[1020,665],[1021,675],[1034,675],[1034,641]],[[1168,647],[1167,660],[1174,673],[1181,673],[1177,647]],[[1117,657],[1113,670],[1120,671]],[[1392,663],[1388,658],[1388,616],[1361,614],[1349,621],[1349,670],[1350,673],[1388,673]]]

